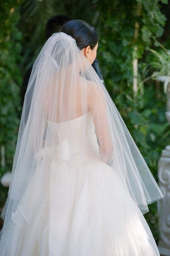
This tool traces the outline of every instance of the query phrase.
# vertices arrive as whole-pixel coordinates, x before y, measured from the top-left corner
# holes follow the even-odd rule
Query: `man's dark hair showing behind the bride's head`
[[[48,39],[54,33],[61,32],[63,25],[70,20],[72,20],[71,17],[69,17],[68,15],[62,15],[62,14],[51,17],[47,21],[46,27],[45,27],[46,38]]]

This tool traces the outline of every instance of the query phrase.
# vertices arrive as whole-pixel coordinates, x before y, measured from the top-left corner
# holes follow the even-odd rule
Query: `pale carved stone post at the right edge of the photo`
[[[165,93],[167,94],[165,114],[170,123],[170,83],[167,84]],[[162,150],[158,168],[159,187],[164,195],[164,198],[157,203],[160,231],[158,248],[161,255],[170,256],[170,145]]]

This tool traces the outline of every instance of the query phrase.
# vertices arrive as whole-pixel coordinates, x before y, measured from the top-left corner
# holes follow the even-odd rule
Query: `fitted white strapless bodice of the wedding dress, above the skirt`
[[[56,123],[48,120],[48,134],[50,144],[58,145],[63,140],[67,140],[71,155],[98,154],[99,152],[90,111],[66,122]]]

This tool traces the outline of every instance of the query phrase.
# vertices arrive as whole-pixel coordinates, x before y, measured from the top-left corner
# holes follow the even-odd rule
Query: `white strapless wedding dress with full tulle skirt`
[[[84,123],[91,133],[86,152]],[[37,169],[11,215],[15,237],[1,255],[158,256],[141,211],[99,158],[91,113],[48,121],[48,129],[55,145],[35,155]]]

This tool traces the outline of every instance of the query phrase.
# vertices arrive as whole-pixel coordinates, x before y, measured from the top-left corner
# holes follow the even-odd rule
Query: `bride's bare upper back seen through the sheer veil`
[[[65,81],[59,79],[48,91],[46,109],[52,122],[66,122],[88,112],[90,81],[81,76],[77,76],[77,79],[74,81],[68,75]]]

